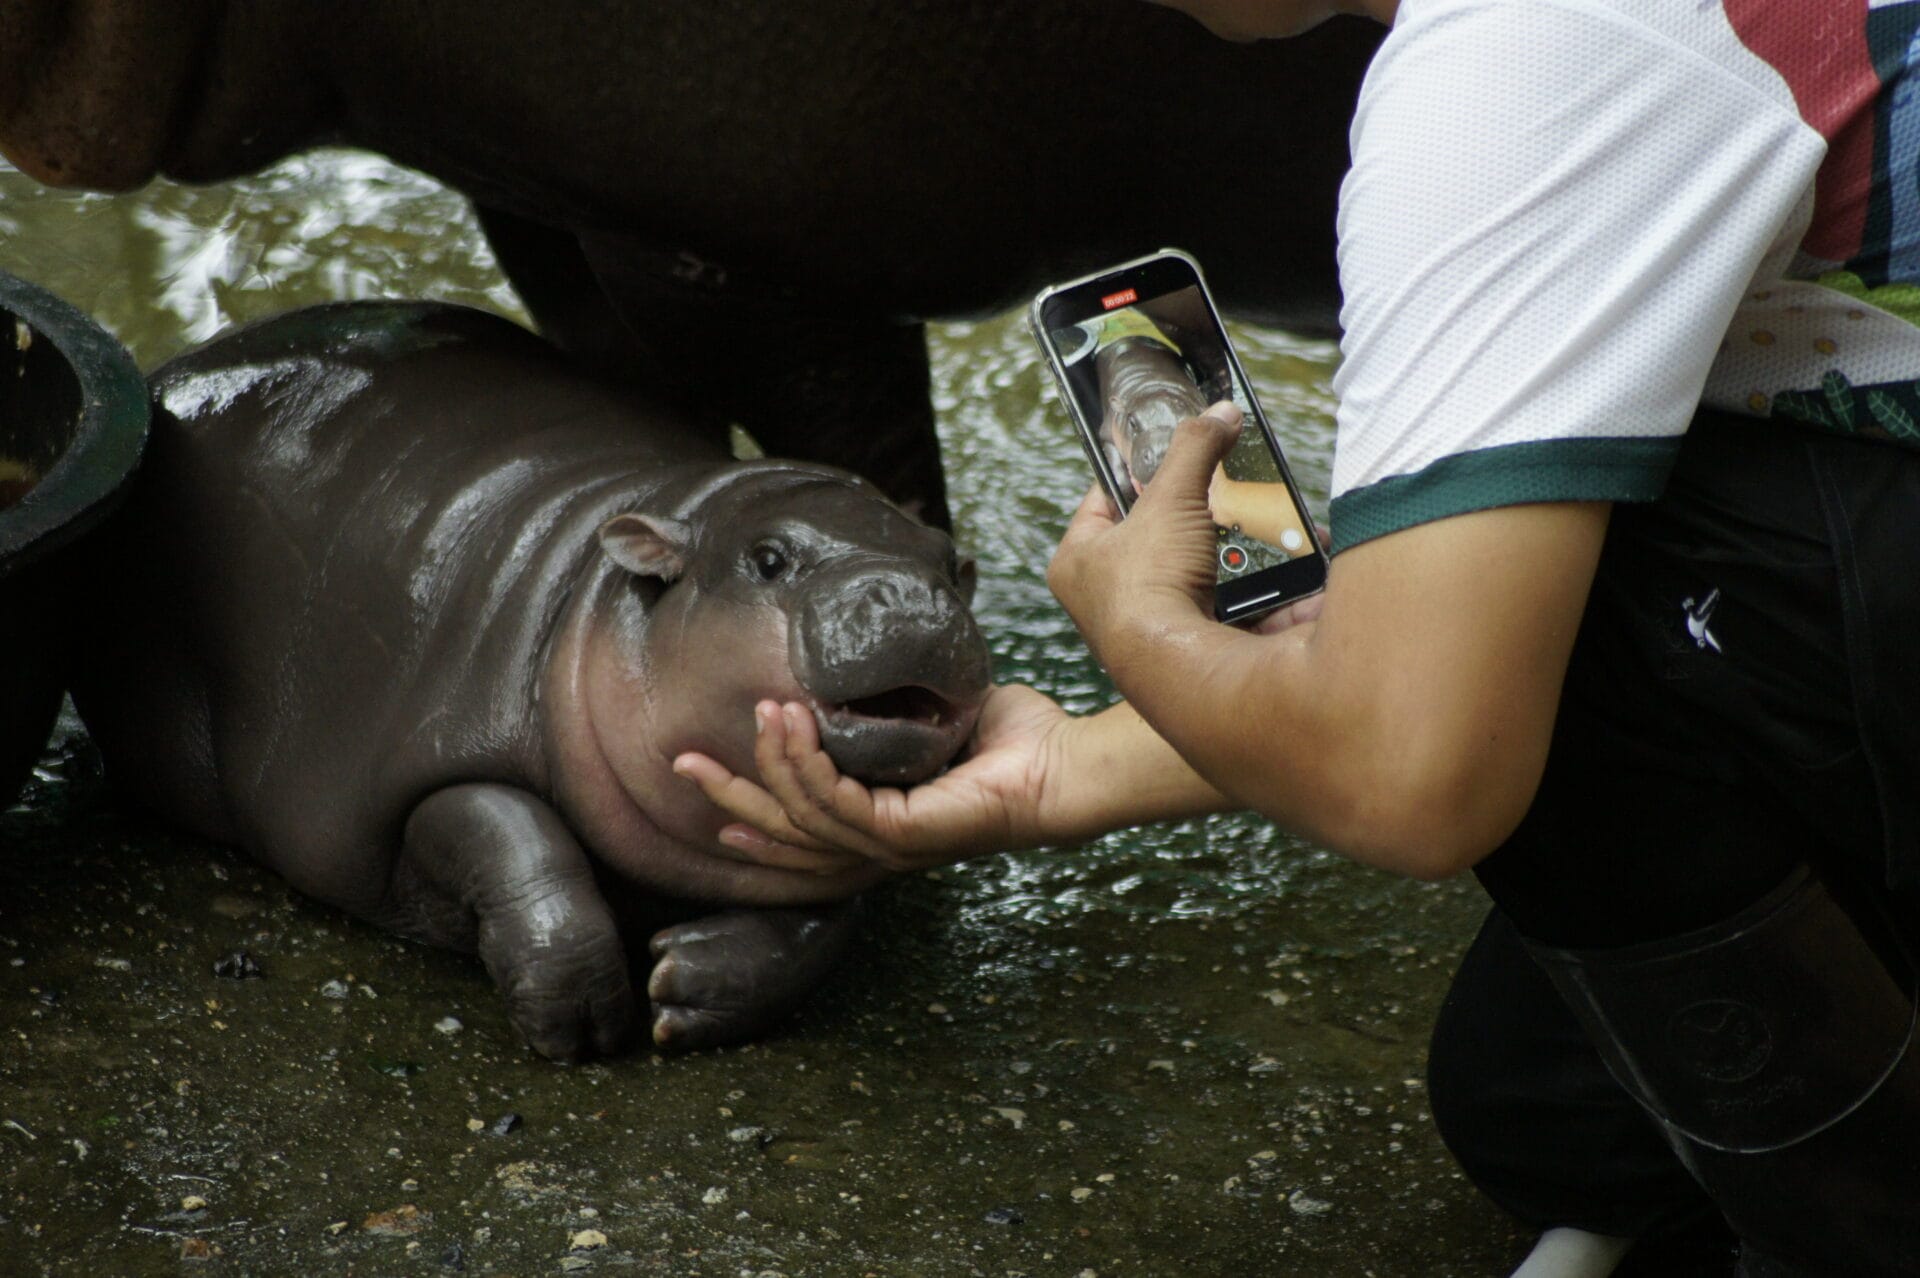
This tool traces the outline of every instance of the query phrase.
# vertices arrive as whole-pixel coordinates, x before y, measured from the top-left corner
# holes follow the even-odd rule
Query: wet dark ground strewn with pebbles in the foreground
[[[115,814],[84,745],[50,764],[0,817],[0,1272],[1388,1276],[1519,1249],[1421,1086],[1465,888],[1371,883],[1334,931],[1284,890],[1167,915],[1179,885],[1121,856],[1052,921],[1006,910],[1006,865],[943,871],[879,892],[774,1040],[563,1069],[476,961]],[[1309,858],[1300,890],[1344,873]],[[236,954],[261,975],[219,975]]]

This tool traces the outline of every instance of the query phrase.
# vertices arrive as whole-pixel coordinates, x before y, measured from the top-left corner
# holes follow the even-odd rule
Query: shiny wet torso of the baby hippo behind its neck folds
[[[540,769],[540,652],[593,524],[716,461],[455,307],[292,313],[152,386],[77,702],[136,798],[349,908],[420,791]]]

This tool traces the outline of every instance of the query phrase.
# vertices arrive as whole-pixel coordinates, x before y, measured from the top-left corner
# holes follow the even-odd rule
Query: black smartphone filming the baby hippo
[[[1213,476],[1213,616],[1246,622],[1327,585],[1327,551],[1200,263],[1179,249],[1041,290],[1027,313],[1087,459],[1121,516],[1173,428],[1231,399],[1244,424]]]

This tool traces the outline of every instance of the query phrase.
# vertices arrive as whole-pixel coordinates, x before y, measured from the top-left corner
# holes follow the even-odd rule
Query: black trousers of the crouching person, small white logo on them
[[[1615,509],[1540,793],[1478,867],[1496,911],[1430,1050],[1467,1174],[1540,1228],[1699,1213],[1521,936],[1680,935],[1801,862],[1920,940],[1920,451],[1703,413]]]

